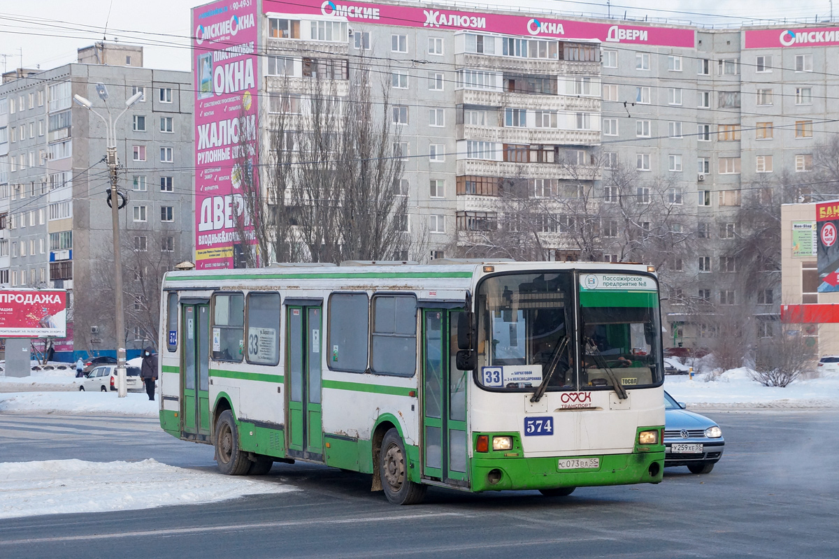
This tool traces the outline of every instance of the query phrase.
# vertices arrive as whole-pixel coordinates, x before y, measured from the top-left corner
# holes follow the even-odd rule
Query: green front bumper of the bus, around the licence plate
[[[559,462],[564,458],[600,458],[600,467],[560,470]],[[472,457],[471,474],[473,491],[658,484],[664,476],[664,448],[585,457]]]

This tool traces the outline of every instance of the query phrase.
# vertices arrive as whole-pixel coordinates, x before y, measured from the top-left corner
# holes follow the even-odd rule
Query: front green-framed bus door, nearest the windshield
[[[457,323],[463,311],[423,313],[423,476],[468,485],[466,382],[457,370]]]

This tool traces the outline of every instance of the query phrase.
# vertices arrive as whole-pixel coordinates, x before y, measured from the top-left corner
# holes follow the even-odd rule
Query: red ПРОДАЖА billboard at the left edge
[[[0,291],[0,338],[64,338],[66,329],[65,290]]]

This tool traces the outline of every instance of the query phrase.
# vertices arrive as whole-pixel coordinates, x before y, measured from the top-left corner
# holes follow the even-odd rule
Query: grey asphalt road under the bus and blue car
[[[300,491],[222,503],[0,520],[2,557],[839,556],[839,411],[718,411],[727,449],[711,474],[659,485],[466,494],[395,507],[369,476],[276,464]],[[212,449],[154,420],[0,415],[0,462],[155,458],[211,468]],[[2,475],[2,472],[0,472]]]

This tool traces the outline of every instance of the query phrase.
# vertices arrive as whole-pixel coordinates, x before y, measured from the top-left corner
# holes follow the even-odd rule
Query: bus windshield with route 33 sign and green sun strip
[[[477,289],[477,383],[506,391],[657,386],[653,277],[574,272],[487,277]],[[575,330],[579,304],[580,331]]]

